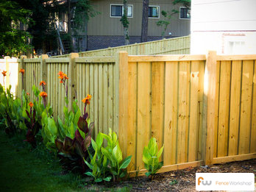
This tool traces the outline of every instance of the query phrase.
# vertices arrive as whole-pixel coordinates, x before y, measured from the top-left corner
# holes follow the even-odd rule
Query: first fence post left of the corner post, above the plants
[[[76,88],[77,88],[77,67],[75,63],[75,58],[79,57],[78,53],[69,54],[69,63],[68,63],[68,109],[71,110],[72,103],[76,99]]]

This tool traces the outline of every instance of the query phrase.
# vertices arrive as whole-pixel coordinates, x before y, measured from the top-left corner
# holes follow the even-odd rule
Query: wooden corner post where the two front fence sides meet
[[[118,138],[124,157],[127,157],[128,129],[128,53],[119,52],[119,126]]]

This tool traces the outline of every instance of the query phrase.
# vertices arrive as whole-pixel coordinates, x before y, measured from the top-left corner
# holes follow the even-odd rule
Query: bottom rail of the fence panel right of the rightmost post
[[[238,154],[226,157],[215,157],[213,158],[213,164],[221,164],[221,163],[228,163],[232,161],[241,161],[241,160],[250,160],[255,159],[256,153],[249,153],[249,154]]]

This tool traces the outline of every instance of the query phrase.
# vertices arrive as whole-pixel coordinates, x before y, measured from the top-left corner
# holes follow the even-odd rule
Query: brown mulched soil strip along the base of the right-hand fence
[[[256,174],[256,159],[170,171],[163,174],[157,174],[152,180],[146,176],[130,178],[129,180],[118,184],[111,183],[109,189],[110,191],[122,191],[121,189],[126,186],[130,191],[196,191],[196,173]],[[102,188],[106,187],[106,185],[86,186],[87,189],[95,191],[102,191]]]

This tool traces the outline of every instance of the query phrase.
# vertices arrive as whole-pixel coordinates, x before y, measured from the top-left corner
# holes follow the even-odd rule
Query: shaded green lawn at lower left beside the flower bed
[[[8,138],[0,130],[0,188],[1,191],[95,191],[86,189],[83,179],[73,173],[63,174],[54,154],[38,146],[32,149],[23,141],[24,135]],[[98,191],[115,191],[99,188]],[[118,191],[129,191],[129,187]]]

